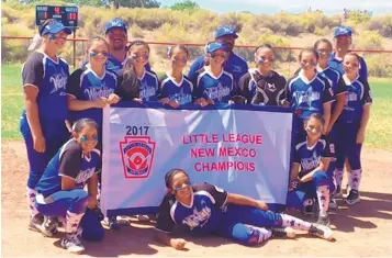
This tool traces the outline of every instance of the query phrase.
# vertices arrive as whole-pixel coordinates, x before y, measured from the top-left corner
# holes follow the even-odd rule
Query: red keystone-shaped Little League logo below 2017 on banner
[[[155,153],[155,142],[149,136],[125,136],[120,152],[125,178],[148,178]]]

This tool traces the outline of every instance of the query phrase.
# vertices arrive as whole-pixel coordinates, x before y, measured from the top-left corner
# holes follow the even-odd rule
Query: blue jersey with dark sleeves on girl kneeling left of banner
[[[101,153],[93,149],[85,155],[76,139],[69,139],[47,165],[35,187],[44,198],[61,190],[61,177],[75,181],[75,188],[82,189],[86,182],[99,171]]]

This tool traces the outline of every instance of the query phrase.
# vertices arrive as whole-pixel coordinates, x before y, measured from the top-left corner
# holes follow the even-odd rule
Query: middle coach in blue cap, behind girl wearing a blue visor
[[[239,78],[248,71],[248,65],[246,60],[236,55],[233,52],[235,40],[238,37],[236,31],[231,26],[221,26],[216,30],[215,41],[225,43],[228,46],[228,55],[225,63],[223,64],[223,69],[228,71],[234,76],[235,87],[237,88]],[[205,54],[204,54],[205,55]],[[188,78],[193,81],[197,71],[204,66],[204,55],[199,57],[193,61],[189,72]]]

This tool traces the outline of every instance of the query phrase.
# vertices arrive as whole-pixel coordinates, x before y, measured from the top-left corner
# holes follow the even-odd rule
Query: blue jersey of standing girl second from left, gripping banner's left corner
[[[72,72],[67,83],[67,94],[75,97],[77,100],[94,101],[98,98],[108,98],[117,86],[117,76],[115,72],[105,69],[104,74],[99,77],[93,70],[85,67]],[[82,117],[94,120],[102,127],[102,109],[87,109],[71,112],[72,121]]]

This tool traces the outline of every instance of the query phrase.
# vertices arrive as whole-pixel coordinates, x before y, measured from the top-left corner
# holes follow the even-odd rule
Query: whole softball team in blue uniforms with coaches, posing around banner
[[[104,106],[120,100],[159,101],[175,109],[247,103],[292,109],[295,127],[287,206],[316,212],[317,223],[270,212],[261,200],[227,193],[209,183],[191,184],[184,170],[172,169],[165,177],[168,193],[159,206],[157,239],[184,249],[186,242],[169,234],[176,224],[192,234],[217,234],[249,246],[272,236],[294,237],[294,229],[333,238],[328,209],[336,207],[345,159],[349,165],[346,202],[360,201],[360,154],[372,103],[366,64],[349,52],[350,29],[335,31],[335,53],[325,38],[314,48],[303,49],[301,68],[288,81],[273,70],[273,48],[268,44],[256,48],[256,67],[248,69],[233,53],[237,34],[231,27],[217,30],[205,55],[192,65],[190,79],[183,75],[188,48],[169,47],[169,69],[159,80],[148,65],[148,44],[133,41],[126,45],[124,21],[113,19],[104,32],[105,40],[91,40],[88,61],[69,77],[68,65],[57,53],[71,32],[47,20],[38,30],[40,49],[22,67],[25,109],[20,128],[30,162],[29,228],[53,236],[63,224],[66,235],[60,245],[75,254],[85,250],[80,234],[87,239],[103,238],[98,175]],[[69,122],[71,127],[67,127]],[[119,228],[114,217],[107,222]]]

